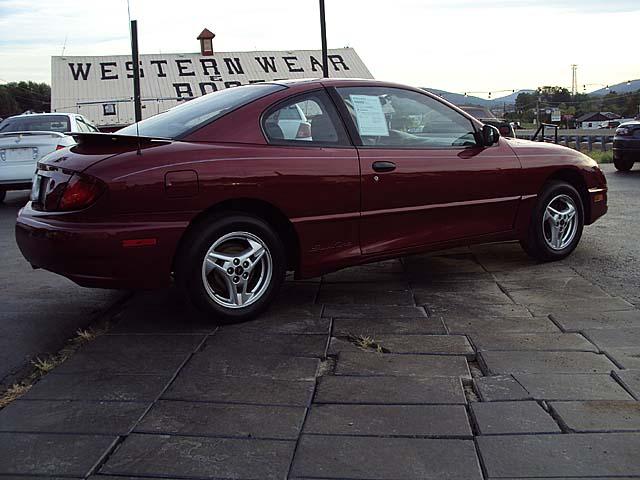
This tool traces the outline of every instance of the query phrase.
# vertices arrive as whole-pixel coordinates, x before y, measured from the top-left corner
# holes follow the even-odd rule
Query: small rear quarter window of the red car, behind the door
[[[324,91],[279,103],[265,113],[262,127],[267,141],[281,145],[349,145],[340,118]]]

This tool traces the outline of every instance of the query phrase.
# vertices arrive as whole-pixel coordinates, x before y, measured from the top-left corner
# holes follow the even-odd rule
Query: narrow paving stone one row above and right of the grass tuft
[[[560,332],[560,329],[546,317],[450,317],[440,315],[450,333],[471,334],[476,332],[495,333],[544,333]]]

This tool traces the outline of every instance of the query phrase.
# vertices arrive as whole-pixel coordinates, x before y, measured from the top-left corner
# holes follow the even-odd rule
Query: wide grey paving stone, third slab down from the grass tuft
[[[464,404],[462,383],[453,377],[349,377],[319,379],[317,403]]]

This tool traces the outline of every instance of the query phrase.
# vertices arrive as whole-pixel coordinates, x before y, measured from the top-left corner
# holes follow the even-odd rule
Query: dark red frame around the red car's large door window
[[[473,129],[473,136],[476,142],[475,145],[469,146],[427,146],[427,145],[365,145],[360,137],[360,132],[358,131],[358,126],[356,125],[349,109],[347,108],[346,103],[342,99],[340,92],[338,89],[347,89],[347,88],[360,88],[360,89],[380,89],[384,88],[387,90],[400,90],[402,92],[411,92],[418,95],[422,95],[427,97],[430,100],[440,103],[443,107],[450,109],[451,111],[457,113],[461,117],[467,119],[471,124]],[[401,86],[387,86],[387,85],[344,85],[339,87],[331,87],[329,88],[329,95],[334,103],[337,103],[338,112],[342,117],[344,123],[347,126],[347,130],[349,132],[349,136],[351,137],[351,141],[357,146],[359,149],[380,149],[380,150],[469,150],[472,148],[482,147],[482,143],[479,141],[480,130],[478,127],[478,122],[473,119],[470,115],[465,113],[464,111],[459,111],[455,108],[451,108],[450,105],[443,102],[441,99],[434,95],[430,95],[428,92],[423,90],[414,90],[410,88],[403,88]]]

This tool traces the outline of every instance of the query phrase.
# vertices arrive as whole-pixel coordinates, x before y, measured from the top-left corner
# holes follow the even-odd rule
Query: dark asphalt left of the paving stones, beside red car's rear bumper
[[[19,379],[40,356],[65,342],[122,297],[33,270],[14,237],[18,210],[29,192],[9,192],[0,204],[0,388]]]

